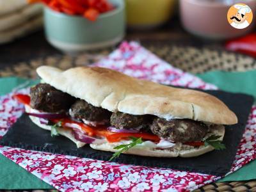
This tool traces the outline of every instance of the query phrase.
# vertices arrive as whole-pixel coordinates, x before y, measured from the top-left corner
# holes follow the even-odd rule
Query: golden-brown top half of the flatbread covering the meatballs
[[[211,124],[237,123],[237,116],[221,100],[204,92],[172,88],[100,67],[63,71],[42,66],[36,72],[54,88],[109,111],[150,114],[167,120],[189,118]]]

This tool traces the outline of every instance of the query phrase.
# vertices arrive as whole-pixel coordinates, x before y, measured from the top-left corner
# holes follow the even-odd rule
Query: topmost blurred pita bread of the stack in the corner
[[[0,15],[15,12],[27,4],[26,0],[0,0]]]

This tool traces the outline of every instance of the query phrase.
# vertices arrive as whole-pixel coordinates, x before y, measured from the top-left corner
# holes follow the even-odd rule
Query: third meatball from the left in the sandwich
[[[130,115],[127,113],[112,113],[110,124],[117,129],[145,129],[150,123],[150,116]]]

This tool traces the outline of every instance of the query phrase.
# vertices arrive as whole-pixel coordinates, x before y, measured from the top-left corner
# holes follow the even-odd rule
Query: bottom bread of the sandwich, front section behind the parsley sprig
[[[225,127],[223,125],[216,125],[216,127],[211,129],[211,132],[208,133],[208,136],[211,136],[212,134],[221,136],[220,140],[222,141],[225,134]],[[90,147],[97,150],[116,152],[117,150],[115,150],[114,147],[122,144],[122,142],[90,144]],[[206,152],[210,152],[211,150],[214,150],[214,147],[211,147],[210,145],[208,145],[207,147],[192,147],[189,145],[182,145],[181,143],[178,143],[177,145],[172,147],[172,149],[160,150],[153,148],[134,147],[124,153],[149,157],[196,157],[205,154]]]

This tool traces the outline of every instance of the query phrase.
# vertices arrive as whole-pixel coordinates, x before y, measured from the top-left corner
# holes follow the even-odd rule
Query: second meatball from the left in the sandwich
[[[92,122],[108,120],[109,122],[111,112],[103,108],[92,106],[85,100],[77,100],[74,104],[72,104],[69,110],[69,115],[77,120],[88,120]]]

